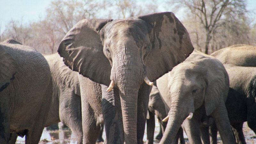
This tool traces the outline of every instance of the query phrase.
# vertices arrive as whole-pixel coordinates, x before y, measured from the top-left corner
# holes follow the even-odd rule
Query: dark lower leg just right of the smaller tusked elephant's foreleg
[[[246,144],[244,139],[244,133],[243,133],[243,124],[244,123],[232,124],[232,129],[233,129],[237,144]]]

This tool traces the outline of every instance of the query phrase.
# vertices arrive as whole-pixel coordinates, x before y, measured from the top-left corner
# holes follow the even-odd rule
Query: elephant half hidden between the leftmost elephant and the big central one
[[[52,77],[52,93],[50,109],[44,127],[62,122],[67,125],[76,136],[77,143],[83,143],[81,94],[78,73],[69,69],[58,53],[44,55]],[[51,91],[49,89],[49,91]],[[12,136],[10,144],[16,142]]]

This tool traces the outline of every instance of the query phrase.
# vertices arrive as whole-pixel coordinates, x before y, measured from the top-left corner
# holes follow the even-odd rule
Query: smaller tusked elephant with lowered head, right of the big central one
[[[190,143],[202,143],[200,124],[207,116],[214,118],[223,143],[235,143],[225,107],[228,74],[219,60],[194,51],[156,84],[170,107],[160,144],[172,143],[182,123]]]

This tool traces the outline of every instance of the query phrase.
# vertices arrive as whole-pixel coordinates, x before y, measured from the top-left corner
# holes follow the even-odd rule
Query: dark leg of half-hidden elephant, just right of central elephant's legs
[[[147,119],[147,144],[154,143],[155,132],[155,114],[148,110],[149,119]]]

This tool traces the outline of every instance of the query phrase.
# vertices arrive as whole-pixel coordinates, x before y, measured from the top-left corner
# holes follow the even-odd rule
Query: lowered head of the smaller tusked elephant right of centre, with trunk
[[[211,56],[192,53],[185,62],[157,80],[159,91],[167,79],[168,97],[163,97],[170,107],[164,136],[160,143],[172,143],[183,121],[191,119],[195,110],[204,105],[209,116],[226,99],[228,75],[220,61]],[[162,94],[162,92],[161,92]],[[226,96],[226,97],[225,97]]]

